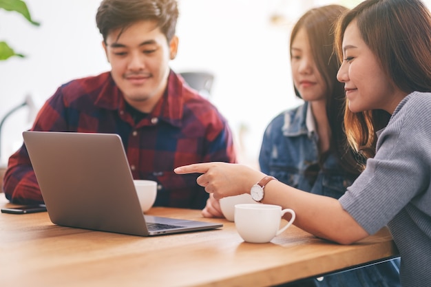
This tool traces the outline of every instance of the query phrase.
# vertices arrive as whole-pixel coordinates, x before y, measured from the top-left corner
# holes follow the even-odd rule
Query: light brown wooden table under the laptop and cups
[[[12,205],[0,198],[0,206]],[[386,228],[350,246],[295,226],[270,243],[249,244],[232,222],[200,211],[158,207],[149,214],[224,226],[138,237],[56,226],[48,213],[0,213],[0,286],[271,286],[397,257]]]

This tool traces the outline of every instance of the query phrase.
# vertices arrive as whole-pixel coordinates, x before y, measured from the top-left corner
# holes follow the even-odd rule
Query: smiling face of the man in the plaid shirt
[[[176,56],[178,38],[168,44],[155,21],[138,21],[110,32],[103,47],[127,103],[151,111],[167,87],[169,60]]]

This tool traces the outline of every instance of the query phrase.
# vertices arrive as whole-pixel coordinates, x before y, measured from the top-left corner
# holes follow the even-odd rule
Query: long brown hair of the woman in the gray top
[[[339,61],[343,61],[344,32],[354,19],[392,85],[406,94],[431,92],[431,15],[421,1],[366,0],[346,12],[335,33]],[[386,127],[389,119],[390,114],[383,110],[353,113],[346,107],[348,142],[367,158],[374,156],[376,131]]]

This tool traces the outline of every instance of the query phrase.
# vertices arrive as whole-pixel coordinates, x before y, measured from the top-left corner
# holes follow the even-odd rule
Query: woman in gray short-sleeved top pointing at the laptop
[[[431,286],[431,15],[420,0],[366,0],[335,34],[344,83],[348,142],[366,167],[339,200],[269,181],[255,200],[296,212],[295,225],[351,244],[388,226],[401,255],[403,287]],[[264,173],[209,162],[176,169],[204,173],[215,199],[250,193]]]

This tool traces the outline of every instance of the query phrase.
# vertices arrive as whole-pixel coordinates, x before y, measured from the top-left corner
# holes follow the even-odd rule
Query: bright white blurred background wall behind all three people
[[[0,118],[26,94],[41,105],[62,83],[109,70],[94,20],[100,1],[25,0],[40,27],[0,10],[0,40],[27,55],[0,62]],[[330,2],[337,1],[179,0],[180,47],[171,67],[215,74],[213,103],[235,136],[246,126],[245,163],[255,164],[269,120],[300,103],[293,94],[288,61],[291,26],[311,6]],[[348,0],[338,2],[348,5]],[[271,24],[274,12],[288,22]],[[21,145],[21,131],[30,127],[27,115],[23,108],[3,126],[0,163]]]

